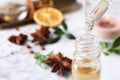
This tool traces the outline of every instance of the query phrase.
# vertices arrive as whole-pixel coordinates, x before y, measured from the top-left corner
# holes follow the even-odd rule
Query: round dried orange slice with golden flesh
[[[56,8],[45,7],[37,10],[33,15],[33,19],[43,26],[56,27],[63,21],[63,15]]]

